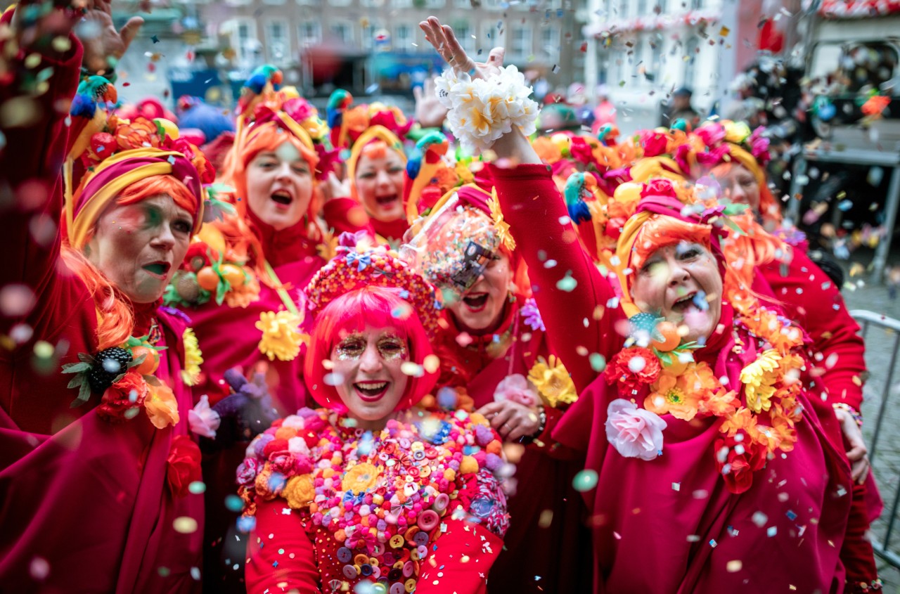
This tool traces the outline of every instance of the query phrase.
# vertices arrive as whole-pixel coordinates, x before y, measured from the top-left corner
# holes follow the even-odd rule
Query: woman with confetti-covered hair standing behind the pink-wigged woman
[[[589,581],[590,536],[572,478],[581,465],[547,455],[545,442],[577,394],[547,352],[544,323],[527,298],[527,275],[499,206],[467,184],[437,202],[413,226],[401,254],[444,295],[437,345],[453,365],[437,392],[440,408],[474,407],[517,452],[510,492],[515,520],[491,571],[498,590],[576,591]],[[451,390],[450,387],[455,388]],[[512,458],[512,456],[510,456]],[[556,554],[545,544],[559,543]],[[527,567],[527,571],[523,571]]]

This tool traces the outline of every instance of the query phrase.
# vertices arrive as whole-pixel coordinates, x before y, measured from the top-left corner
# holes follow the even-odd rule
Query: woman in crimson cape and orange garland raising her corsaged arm
[[[425,26],[468,72],[452,31],[437,19]],[[451,101],[464,110],[458,88]],[[491,173],[543,288],[550,345],[575,343],[563,360],[584,390],[554,438],[587,456],[579,484],[598,590],[843,590],[852,479],[840,427],[810,391],[803,331],[725,266],[715,224],[724,212],[685,208],[671,183],[647,184],[623,205],[626,223],[608,228],[617,251],[607,277],[578,247],[521,131],[491,148],[520,163]],[[598,376],[592,359],[608,371]]]

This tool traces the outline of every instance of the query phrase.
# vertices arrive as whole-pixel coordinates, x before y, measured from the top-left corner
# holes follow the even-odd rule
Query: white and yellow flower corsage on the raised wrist
[[[447,126],[467,151],[487,150],[517,126],[526,136],[537,130],[540,110],[529,99],[531,87],[515,66],[500,67],[491,80],[447,68],[435,81],[437,100],[447,110]]]

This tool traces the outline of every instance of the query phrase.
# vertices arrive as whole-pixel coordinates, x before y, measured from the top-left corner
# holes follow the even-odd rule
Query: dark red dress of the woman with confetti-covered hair
[[[539,316],[539,314],[538,314]],[[512,374],[525,377],[538,356],[547,358],[545,332],[537,320],[526,321],[520,303],[507,304],[503,322],[495,332],[473,336],[465,347],[450,328],[441,342],[450,347],[474,410],[494,401],[494,392]],[[574,592],[590,588],[590,533],[585,527],[581,496],[572,479],[581,471],[579,461],[561,460],[548,451],[550,435],[563,410],[545,407],[544,432],[525,447],[516,463],[516,489],[509,496],[509,531],[506,544],[491,569],[491,590],[498,592]],[[547,547],[553,544],[554,553]]]

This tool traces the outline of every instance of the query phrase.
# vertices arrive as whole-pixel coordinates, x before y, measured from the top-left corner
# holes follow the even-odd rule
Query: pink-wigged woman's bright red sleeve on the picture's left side
[[[284,514],[284,509],[290,508],[279,499],[257,505],[257,525],[247,543],[247,592],[319,594],[315,546],[300,516]]]

